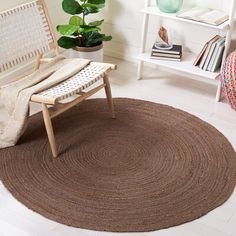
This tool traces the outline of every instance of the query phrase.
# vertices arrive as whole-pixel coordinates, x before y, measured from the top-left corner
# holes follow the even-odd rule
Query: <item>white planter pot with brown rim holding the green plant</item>
[[[103,44],[96,47],[76,47],[68,53],[70,58],[83,58],[91,61],[103,62]]]

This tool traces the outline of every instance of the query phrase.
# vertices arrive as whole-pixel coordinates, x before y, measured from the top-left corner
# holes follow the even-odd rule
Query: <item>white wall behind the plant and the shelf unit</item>
[[[198,4],[228,11],[232,0],[185,0],[185,5]],[[1,0],[0,11],[25,0]],[[63,24],[69,15],[63,13],[61,0],[46,0],[54,26]],[[144,7],[145,0],[107,0],[107,7],[102,13],[92,18],[105,19],[103,31],[111,34],[113,40],[105,43],[105,53],[111,56],[133,60],[138,54],[141,40],[143,15],[140,10]],[[155,5],[155,0],[152,0]],[[219,33],[209,28],[193,26],[187,23],[161,21],[158,17],[150,18],[148,31],[148,45],[152,46],[160,25],[170,31],[172,41],[185,46],[186,49],[199,52],[202,45],[211,37]]]

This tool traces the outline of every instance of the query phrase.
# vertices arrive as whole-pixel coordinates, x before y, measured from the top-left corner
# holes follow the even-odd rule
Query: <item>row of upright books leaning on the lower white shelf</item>
[[[202,70],[215,72],[221,66],[224,50],[225,37],[216,35],[205,44],[194,65],[199,66]]]

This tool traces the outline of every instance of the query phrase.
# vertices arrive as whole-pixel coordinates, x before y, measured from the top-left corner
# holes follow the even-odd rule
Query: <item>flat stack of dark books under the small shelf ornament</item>
[[[182,46],[173,45],[171,49],[160,49],[153,45],[151,59],[168,60],[168,61],[181,61]]]

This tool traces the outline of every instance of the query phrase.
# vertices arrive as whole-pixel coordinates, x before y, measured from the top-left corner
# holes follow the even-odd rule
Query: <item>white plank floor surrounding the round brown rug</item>
[[[180,75],[148,68],[149,79],[136,80],[136,64],[117,63],[112,72],[114,97],[129,97],[168,104],[207,121],[220,130],[236,149],[236,112],[226,103],[216,103],[216,86]],[[104,97],[103,93],[96,97]],[[36,112],[38,107],[32,107]],[[1,111],[0,111],[1,113]],[[3,114],[3,113],[1,113]],[[223,206],[191,223],[151,233],[118,234],[67,227],[34,213],[17,202],[0,182],[0,236],[235,236],[236,191]]]

